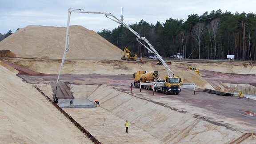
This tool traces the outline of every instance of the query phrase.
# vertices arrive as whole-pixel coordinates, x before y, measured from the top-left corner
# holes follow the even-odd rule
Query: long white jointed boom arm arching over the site
[[[148,49],[149,52],[152,52],[152,53],[155,53],[156,56],[158,56],[159,60],[163,63],[164,67],[167,69],[167,72],[168,72],[168,76],[171,76],[173,77],[174,74],[171,70],[171,68],[168,67],[168,65],[165,63],[165,61],[163,60],[163,58],[158,54],[158,52],[156,52],[155,48],[149,43],[149,41],[145,38],[145,37],[140,37],[140,34],[138,34],[137,32],[135,32],[131,27],[129,27],[127,24],[125,24],[124,22],[122,22],[121,20],[119,20],[118,18],[116,18],[116,16],[112,15],[111,13],[105,13],[105,12],[88,12],[88,11],[84,11],[83,9],[75,9],[75,8],[68,8],[68,23],[67,23],[67,32],[66,32],[66,43],[65,43],[65,49],[64,49],[64,54],[63,54],[63,58],[62,58],[62,61],[61,61],[61,65],[60,65],[60,71],[59,71],[59,75],[58,75],[58,78],[57,78],[57,82],[56,82],[56,92],[57,92],[57,85],[58,85],[58,81],[59,81],[59,78],[60,78],[60,72],[61,72],[61,69],[63,67],[63,64],[64,64],[64,60],[65,60],[65,57],[66,57],[66,53],[68,52],[69,48],[68,48],[68,32],[69,32],[69,22],[70,22],[70,16],[71,16],[71,12],[80,12],[80,13],[92,13],[92,14],[103,14],[105,15],[107,18],[115,21],[116,23],[118,24],[123,24],[124,27],[128,28],[128,30],[130,30],[133,34],[135,34],[137,36],[136,40],[142,44],[140,42],[140,40],[144,40],[149,48],[147,46],[145,46],[144,44],[142,44],[145,48]],[[108,17],[108,16],[111,16],[112,18]],[[55,97],[54,99],[56,98],[56,92],[55,92]]]

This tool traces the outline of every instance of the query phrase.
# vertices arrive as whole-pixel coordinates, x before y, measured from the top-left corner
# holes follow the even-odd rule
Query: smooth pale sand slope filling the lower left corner
[[[31,84],[0,65],[0,143],[92,143]]]

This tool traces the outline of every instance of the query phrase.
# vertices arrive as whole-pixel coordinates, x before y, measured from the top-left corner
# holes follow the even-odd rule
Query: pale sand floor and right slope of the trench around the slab
[[[153,137],[156,137],[160,140],[158,143],[165,144],[224,144],[242,135],[241,132],[204,121],[191,112],[173,110],[170,108],[172,105],[164,107],[148,100],[142,100],[111,86],[71,85],[71,87],[75,98],[100,100],[100,105],[104,110],[98,108],[98,110],[88,109],[84,112],[83,109],[66,108],[65,111],[76,117],[76,120],[103,143],[121,143],[124,140],[129,144],[151,142],[153,144],[156,142]],[[89,117],[84,119],[88,115]],[[104,119],[105,128],[103,128]],[[125,120],[129,120],[131,124],[129,128],[131,134],[129,135],[126,135],[125,129],[122,129]],[[142,129],[146,133],[139,134],[140,130],[138,129]],[[147,139],[152,141],[149,142]]]

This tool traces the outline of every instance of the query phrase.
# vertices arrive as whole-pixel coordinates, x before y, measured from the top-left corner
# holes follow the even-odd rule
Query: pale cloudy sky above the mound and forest
[[[123,16],[125,24],[135,24],[141,19],[149,24],[164,23],[173,18],[187,20],[188,15],[212,12],[254,13],[256,0],[0,0],[0,33],[28,25],[66,27],[68,8],[112,13]],[[70,25],[82,25],[95,32],[113,30],[118,24],[104,15],[72,13]]]

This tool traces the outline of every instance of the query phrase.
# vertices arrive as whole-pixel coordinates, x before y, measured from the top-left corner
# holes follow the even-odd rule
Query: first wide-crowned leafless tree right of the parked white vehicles
[[[192,36],[194,37],[194,39],[196,40],[197,44],[198,44],[198,57],[200,59],[200,44],[201,44],[201,40],[203,38],[204,35],[204,25],[203,23],[197,23],[193,29],[192,29]]]

